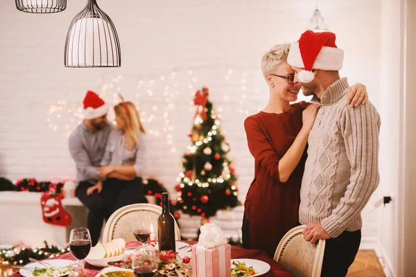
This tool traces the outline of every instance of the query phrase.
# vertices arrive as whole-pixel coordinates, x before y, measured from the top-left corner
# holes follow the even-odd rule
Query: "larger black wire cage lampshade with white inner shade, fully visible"
[[[66,67],[119,67],[121,52],[116,27],[96,0],[71,21],[64,50]]]

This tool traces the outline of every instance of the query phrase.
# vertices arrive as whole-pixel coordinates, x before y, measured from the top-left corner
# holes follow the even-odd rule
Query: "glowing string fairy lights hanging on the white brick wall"
[[[253,109],[253,100],[245,92],[252,89],[254,75],[256,71],[253,69],[227,64],[176,68],[147,75],[103,73],[98,79],[96,92],[112,105],[118,104],[118,93],[122,93],[137,106],[148,134],[164,136],[169,150],[176,152],[175,131],[180,126],[177,126],[173,116],[182,112],[182,102],[191,99],[196,87],[202,82],[209,83],[210,87],[215,88],[216,95],[211,98],[217,106],[232,105],[241,116],[248,116],[258,111]],[[195,107],[190,100],[189,112],[192,111],[195,111]],[[218,107],[217,111],[221,112],[223,108]],[[113,117],[113,111],[110,110],[108,118]],[[46,123],[53,131],[69,136],[82,120],[79,102],[58,101],[49,106]],[[112,123],[115,124],[115,121]],[[216,130],[212,132],[215,134]]]

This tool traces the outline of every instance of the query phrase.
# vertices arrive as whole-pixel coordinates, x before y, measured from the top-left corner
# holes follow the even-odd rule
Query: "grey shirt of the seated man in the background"
[[[81,123],[69,136],[69,152],[76,163],[76,181],[96,180],[97,167],[104,156],[105,145],[110,132],[114,129],[107,123],[103,129],[92,131]]]

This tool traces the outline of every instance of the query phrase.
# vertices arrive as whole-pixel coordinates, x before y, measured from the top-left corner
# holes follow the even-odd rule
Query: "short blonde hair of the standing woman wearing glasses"
[[[263,76],[269,73],[276,73],[279,65],[288,60],[289,50],[291,50],[291,44],[285,43],[277,44],[266,52],[261,58]]]

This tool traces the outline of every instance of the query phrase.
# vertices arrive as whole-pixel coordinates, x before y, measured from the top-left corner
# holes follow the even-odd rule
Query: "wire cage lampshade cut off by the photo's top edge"
[[[67,8],[67,0],[15,0],[17,10],[29,13],[62,12]]]

